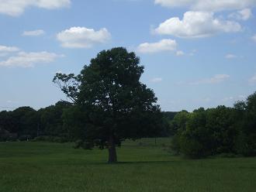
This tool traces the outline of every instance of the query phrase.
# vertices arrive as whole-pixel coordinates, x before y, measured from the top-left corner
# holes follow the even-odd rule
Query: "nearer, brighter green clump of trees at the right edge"
[[[233,108],[181,111],[171,121],[171,148],[191,158],[217,154],[256,156],[256,92]]]

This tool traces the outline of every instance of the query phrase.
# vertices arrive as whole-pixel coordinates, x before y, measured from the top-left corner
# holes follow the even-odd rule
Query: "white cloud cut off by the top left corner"
[[[19,16],[29,6],[43,9],[59,9],[70,4],[71,0],[0,0],[0,13]]]

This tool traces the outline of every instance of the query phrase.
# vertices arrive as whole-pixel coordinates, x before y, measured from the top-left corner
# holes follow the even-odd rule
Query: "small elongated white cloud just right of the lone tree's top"
[[[157,43],[141,43],[137,50],[140,53],[157,53],[161,51],[176,50],[177,43],[173,39],[161,39]]]

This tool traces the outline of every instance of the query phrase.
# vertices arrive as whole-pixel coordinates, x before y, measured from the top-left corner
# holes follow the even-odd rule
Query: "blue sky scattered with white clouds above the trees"
[[[123,46],[163,111],[256,91],[256,0],[0,0],[0,111],[54,105],[54,74]]]

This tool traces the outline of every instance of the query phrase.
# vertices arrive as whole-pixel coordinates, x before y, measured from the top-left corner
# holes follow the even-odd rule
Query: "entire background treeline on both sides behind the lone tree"
[[[71,103],[59,101],[38,111],[30,107],[1,111],[0,141],[74,142],[75,134],[81,134],[76,124],[83,123],[83,115],[78,121],[74,110]],[[256,92],[246,101],[237,101],[233,108],[167,111],[162,112],[162,118],[161,132],[154,136],[171,136],[175,153],[191,158],[222,153],[256,156]]]

